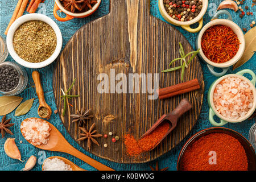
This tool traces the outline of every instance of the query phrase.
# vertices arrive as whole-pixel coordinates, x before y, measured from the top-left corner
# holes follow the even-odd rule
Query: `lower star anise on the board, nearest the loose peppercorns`
[[[93,130],[94,127],[95,127],[95,123],[93,123],[89,131],[87,131],[84,127],[79,127],[79,129],[82,130],[84,133],[80,133],[81,138],[77,139],[77,141],[87,139],[87,147],[89,148],[89,150],[92,142],[100,146],[100,144],[98,144],[97,140],[94,138],[102,137],[102,134],[96,134],[97,130]]]

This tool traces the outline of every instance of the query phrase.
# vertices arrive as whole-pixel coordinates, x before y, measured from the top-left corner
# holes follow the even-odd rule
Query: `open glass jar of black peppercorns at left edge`
[[[27,86],[27,72],[9,61],[0,64],[0,93],[13,96]]]

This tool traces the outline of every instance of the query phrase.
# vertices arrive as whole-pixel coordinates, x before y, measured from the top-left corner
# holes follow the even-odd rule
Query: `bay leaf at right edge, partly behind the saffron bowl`
[[[251,30],[247,31],[245,34],[245,52],[241,59],[233,65],[233,70],[241,67],[241,65],[245,64],[248,60],[253,57],[254,52],[256,51],[256,27],[251,28]]]

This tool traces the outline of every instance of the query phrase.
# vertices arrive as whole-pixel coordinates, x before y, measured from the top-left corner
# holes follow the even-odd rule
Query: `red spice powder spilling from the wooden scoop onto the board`
[[[164,137],[170,128],[170,124],[167,122],[161,123],[154,131],[146,135],[138,141],[133,135],[126,134],[124,136],[124,143],[126,146],[126,152],[128,155],[137,157],[144,151],[150,151],[160,139]]]

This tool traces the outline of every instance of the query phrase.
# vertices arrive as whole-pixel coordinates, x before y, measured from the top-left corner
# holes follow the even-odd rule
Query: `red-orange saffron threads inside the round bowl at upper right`
[[[214,63],[225,63],[236,56],[240,40],[232,28],[225,25],[209,27],[201,39],[204,55]]]

